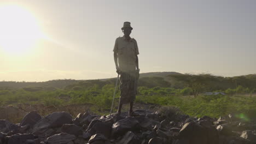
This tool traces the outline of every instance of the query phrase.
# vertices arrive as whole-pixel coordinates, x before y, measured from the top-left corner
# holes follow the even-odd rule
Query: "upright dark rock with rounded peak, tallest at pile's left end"
[[[31,127],[33,127],[33,125],[36,124],[41,118],[42,117],[36,111],[32,111],[30,113],[27,113],[27,115],[24,116],[24,118],[20,123],[20,126],[24,126],[28,124]]]

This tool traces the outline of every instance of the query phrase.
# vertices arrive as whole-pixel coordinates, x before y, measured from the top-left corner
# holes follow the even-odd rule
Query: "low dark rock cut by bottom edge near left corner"
[[[8,144],[24,144],[27,140],[37,139],[33,134],[16,134],[9,137]]]

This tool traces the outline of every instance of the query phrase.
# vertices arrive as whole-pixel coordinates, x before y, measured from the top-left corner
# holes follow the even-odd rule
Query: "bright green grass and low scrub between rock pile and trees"
[[[139,87],[136,101],[139,103],[157,104],[162,106],[176,106],[181,112],[190,116],[219,117],[229,113],[246,121],[256,118],[256,97],[229,96],[229,95],[199,95],[198,97],[184,97],[189,89],[173,88],[146,88]],[[77,91],[37,91],[29,92],[25,89],[0,91],[0,106],[26,103],[31,105],[44,104],[45,106],[56,105],[79,105],[89,104],[92,112],[99,115],[108,115],[112,104],[114,85],[105,85],[102,88],[94,86],[90,89],[77,89]],[[118,105],[120,91],[114,105]],[[116,108],[116,107],[115,107]],[[115,109],[116,110],[116,109]],[[115,111],[114,110],[114,111]]]

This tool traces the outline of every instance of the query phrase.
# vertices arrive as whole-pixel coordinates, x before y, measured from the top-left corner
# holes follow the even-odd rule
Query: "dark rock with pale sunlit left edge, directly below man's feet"
[[[127,131],[136,131],[137,129],[139,129],[139,122],[133,117],[127,117],[112,125],[112,136],[122,136]]]

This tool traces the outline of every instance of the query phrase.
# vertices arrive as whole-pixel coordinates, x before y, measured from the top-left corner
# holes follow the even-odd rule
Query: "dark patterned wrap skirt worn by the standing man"
[[[131,103],[135,101],[137,94],[137,83],[139,73],[137,71],[122,71],[120,74],[120,102],[121,104]]]

